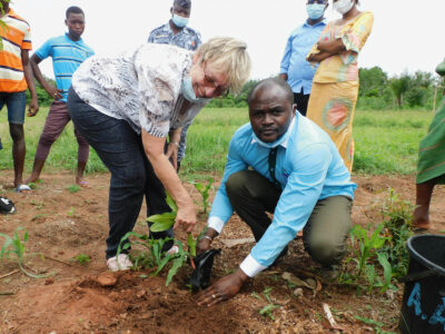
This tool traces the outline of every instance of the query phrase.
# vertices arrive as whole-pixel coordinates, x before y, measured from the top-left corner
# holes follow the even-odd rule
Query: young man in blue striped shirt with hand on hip
[[[60,136],[66,125],[70,121],[67,109],[68,89],[71,86],[71,76],[88,57],[95,55],[80,38],[85,30],[85,13],[79,7],[70,7],[66,12],[65,23],[68,33],[50,38],[31,57],[32,71],[42,85],[44,90],[55,99],[49,109],[44,122],[43,132],[40,136],[39,145],[36,150],[32,174],[27,183],[33,183],[40,177],[44,161],[49,155],[51,145]],[[50,85],[42,76],[39,63],[43,59],[52,57],[52,68],[56,77],[57,88]],[[89,146],[87,140],[75,129],[76,138],[79,144],[78,168],[76,184],[86,186],[83,170],[87,166]]]

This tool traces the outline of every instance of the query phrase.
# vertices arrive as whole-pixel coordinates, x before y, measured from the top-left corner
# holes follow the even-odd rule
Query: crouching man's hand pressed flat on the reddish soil
[[[198,305],[214,306],[220,302],[230,299],[240,291],[247,278],[248,276],[238,268],[234,274],[222,277],[210,287],[201,291],[197,295]]]

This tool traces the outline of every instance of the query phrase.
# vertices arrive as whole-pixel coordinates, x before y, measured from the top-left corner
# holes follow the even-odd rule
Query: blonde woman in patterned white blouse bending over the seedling
[[[246,43],[233,38],[210,39],[195,53],[147,43],[117,58],[91,57],[76,71],[68,96],[71,119],[111,173],[110,271],[131,266],[127,254],[116,253],[144,196],[150,215],[169,210],[165,195],[154,190],[159,183],[178,205],[175,227],[191,232],[195,205],[175,170],[181,127],[208,99],[239,91],[249,71]]]

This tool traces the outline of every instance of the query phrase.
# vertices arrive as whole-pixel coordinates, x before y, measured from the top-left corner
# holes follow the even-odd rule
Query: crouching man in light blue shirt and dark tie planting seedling
[[[234,210],[257,244],[236,273],[199,294],[199,305],[233,297],[245,281],[284,255],[301,229],[305,248],[329,278],[338,274],[346,250],[356,185],[329,136],[296,112],[293,91],[281,79],[258,82],[248,105],[250,124],[230,141],[198,252],[210,248]]]

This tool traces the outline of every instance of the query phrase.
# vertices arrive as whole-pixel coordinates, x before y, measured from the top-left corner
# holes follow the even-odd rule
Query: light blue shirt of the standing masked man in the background
[[[300,92],[303,88],[305,95],[310,94],[313,78],[317,68],[310,66],[306,60],[306,56],[318,41],[325,27],[325,21],[314,26],[305,22],[295,29],[287,40],[279,72],[287,75],[287,82],[294,92]]]

